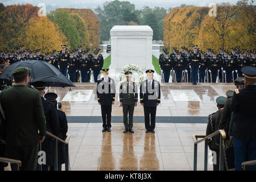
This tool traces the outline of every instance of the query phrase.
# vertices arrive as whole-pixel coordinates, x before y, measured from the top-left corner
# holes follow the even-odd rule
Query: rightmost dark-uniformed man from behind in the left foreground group
[[[65,141],[68,132],[68,122],[66,114],[60,110],[61,108],[57,109],[57,97],[57,94],[52,92],[48,92],[44,95],[44,98],[46,98],[47,101],[52,102],[52,104],[55,105],[55,109],[59,118],[59,134],[57,137]],[[58,141],[58,171],[61,171],[61,164],[64,164],[67,161],[65,147],[66,146],[64,143]],[[51,167],[51,171],[53,171],[53,166]]]

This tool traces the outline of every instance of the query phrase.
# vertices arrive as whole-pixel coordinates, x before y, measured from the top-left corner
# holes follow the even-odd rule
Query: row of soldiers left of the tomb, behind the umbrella
[[[5,69],[6,65],[16,63],[18,61],[25,60],[42,60],[54,65],[60,70],[63,75],[69,75],[69,79],[72,82],[90,82],[90,75],[93,72],[94,82],[97,82],[97,77],[104,64],[104,58],[100,54],[100,49],[96,49],[93,54],[90,53],[90,49],[81,49],[82,47],[74,49],[73,51],[67,51],[65,45],[61,45],[61,51],[57,53],[56,49],[52,52],[46,52],[43,55],[40,49],[35,51],[24,50],[23,45],[19,50],[8,51],[5,49],[0,52],[1,72]]]

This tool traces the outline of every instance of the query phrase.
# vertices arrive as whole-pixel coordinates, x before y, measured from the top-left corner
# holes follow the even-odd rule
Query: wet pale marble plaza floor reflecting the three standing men
[[[112,123],[110,133],[102,133],[102,123],[86,122],[100,116],[96,84],[76,83],[76,88],[49,88],[59,95],[67,116],[83,116],[82,123],[68,123],[69,156],[72,170],[193,170],[193,134],[205,134],[205,123],[156,123],[156,133],[145,133],[144,123],[134,123],[135,133],[123,133],[123,123]],[[118,84],[117,84],[118,88]],[[217,110],[214,100],[233,90],[233,84],[162,83],[161,104],[156,116],[207,117]],[[116,89],[118,90],[118,89]],[[118,93],[113,116],[122,116]],[[143,116],[138,104],[135,116]],[[99,118],[99,117],[97,117]],[[203,170],[204,143],[199,144],[197,169]],[[208,164],[208,170],[212,165]]]

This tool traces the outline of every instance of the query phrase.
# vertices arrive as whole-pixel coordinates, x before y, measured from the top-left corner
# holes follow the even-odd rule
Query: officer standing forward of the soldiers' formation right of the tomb
[[[193,51],[190,53],[190,63],[191,63],[191,80],[193,85],[196,85],[199,69],[199,60],[201,59],[200,52],[197,51],[198,47],[193,46]]]

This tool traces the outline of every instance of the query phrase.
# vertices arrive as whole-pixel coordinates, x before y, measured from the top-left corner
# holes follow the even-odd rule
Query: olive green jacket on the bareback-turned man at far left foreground
[[[46,118],[39,91],[25,85],[14,85],[0,93],[5,113],[1,138],[10,146],[26,146],[46,135]],[[39,133],[38,133],[39,131]]]

